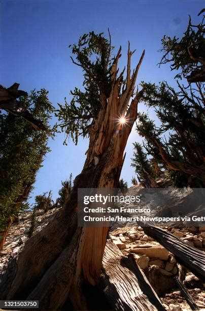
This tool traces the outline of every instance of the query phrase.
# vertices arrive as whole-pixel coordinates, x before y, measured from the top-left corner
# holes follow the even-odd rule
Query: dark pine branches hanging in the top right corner
[[[201,10],[198,16],[203,12],[205,9]],[[204,15],[198,25],[192,25],[189,17],[187,30],[180,40],[164,36],[161,42],[163,56],[160,65],[172,63],[172,70],[181,70],[176,78],[185,77],[189,83],[205,81]]]

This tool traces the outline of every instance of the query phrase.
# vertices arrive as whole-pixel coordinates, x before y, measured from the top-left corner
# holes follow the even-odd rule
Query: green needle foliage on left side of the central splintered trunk
[[[83,90],[71,91],[71,103],[58,104],[56,116],[61,131],[76,144],[78,137],[89,137],[93,118],[101,108],[101,94],[109,96],[111,90],[111,52],[110,41],[101,34],[90,32],[80,37],[78,44],[70,45],[75,60],[72,61],[83,70]],[[105,99],[106,100],[106,99]],[[66,144],[66,139],[64,141]]]

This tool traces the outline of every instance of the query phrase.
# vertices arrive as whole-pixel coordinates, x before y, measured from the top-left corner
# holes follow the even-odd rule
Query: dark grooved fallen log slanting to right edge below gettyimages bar
[[[143,225],[142,225],[143,226]],[[200,279],[205,279],[205,253],[196,247],[187,244],[180,238],[174,236],[154,225],[144,227],[144,232],[154,238],[169,252],[173,253],[177,261],[188,268],[194,275]]]

